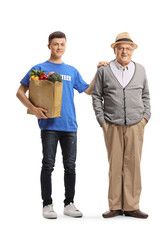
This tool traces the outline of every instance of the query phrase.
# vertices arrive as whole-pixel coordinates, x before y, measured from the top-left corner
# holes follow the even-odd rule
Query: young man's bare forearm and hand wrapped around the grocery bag
[[[21,84],[16,94],[17,98],[24,104],[24,106],[26,106],[29,110],[31,110],[38,119],[39,118],[47,119],[45,115],[45,113],[47,113],[47,110],[44,108],[35,107],[26,96],[27,90],[28,90],[28,87]]]

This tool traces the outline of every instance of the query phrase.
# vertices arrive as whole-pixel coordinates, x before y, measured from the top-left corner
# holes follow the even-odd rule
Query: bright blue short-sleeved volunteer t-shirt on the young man
[[[57,72],[63,79],[61,117],[38,119],[41,130],[77,131],[77,121],[74,105],[74,89],[79,93],[84,92],[89,85],[82,79],[74,67],[65,63],[55,64],[49,61],[32,67],[20,83],[29,87],[30,71],[32,69],[45,71],[45,73]]]

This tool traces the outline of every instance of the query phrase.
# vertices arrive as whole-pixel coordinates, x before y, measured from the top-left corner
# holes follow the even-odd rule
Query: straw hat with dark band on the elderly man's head
[[[138,47],[138,45],[132,41],[128,32],[118,34],[115,43],[112,43],[111,47],[114,48],[118,43],[131,43],[134,46],[134,49]]]

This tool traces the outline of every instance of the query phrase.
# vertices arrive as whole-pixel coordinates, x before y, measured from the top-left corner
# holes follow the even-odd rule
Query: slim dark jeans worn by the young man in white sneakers
[[[43,160],[41,170],[41,194],[43,207],[52,204],[52,171],[54,170],[58,141],[62,149],[64,165],[65,206],[73,202],[75,194],[75,162],[77,153],[77,133],[53,130],[41,131]]]

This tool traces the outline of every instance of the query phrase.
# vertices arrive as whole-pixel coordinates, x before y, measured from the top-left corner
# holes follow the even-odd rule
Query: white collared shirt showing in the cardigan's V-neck
[[[125,87],[131,81],[135,72],[135,64],[132,61],[125,69],[123,69],[123,66],[119,64],[117,60],[110,62],[110,67],[122,87]]]

